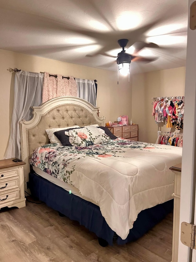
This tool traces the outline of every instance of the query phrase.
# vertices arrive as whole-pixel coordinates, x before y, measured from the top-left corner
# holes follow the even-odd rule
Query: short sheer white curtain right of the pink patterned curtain
[[[77,97],[83,98],[84,100],[91,103],[96,107],[96,88],[94,80],[87,80],[76,78],[77,82]]]

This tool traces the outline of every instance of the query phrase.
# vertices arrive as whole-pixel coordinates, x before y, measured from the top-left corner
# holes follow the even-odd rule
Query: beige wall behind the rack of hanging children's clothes
[[[139,124],[139,141],[155,143],[158,125],[152,116],[152,97],[183,96],[185,67],[132,76],[132,121]],[[161,130],[175,131],[160,124]]]

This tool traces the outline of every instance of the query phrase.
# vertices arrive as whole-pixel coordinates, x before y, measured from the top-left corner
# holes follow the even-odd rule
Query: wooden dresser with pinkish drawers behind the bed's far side
[[[115,126],[107,128],[117,137],[138,141],[138,125]]]

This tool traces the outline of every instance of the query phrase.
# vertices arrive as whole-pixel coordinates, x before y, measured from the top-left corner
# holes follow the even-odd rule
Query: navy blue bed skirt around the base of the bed
[[[97,237],[105,239],[109,245],[113,244],[115,232],[107,225],[99,206],[70,194],[63,188],[32,172],[29,174],[29,186],[32,196],[38,197],[47,206],[71,220],[78,221],[80,225],[84,225],[89,231],[94,232]],[[118,236],[117,244],[121,245],[137,240],[160,222],[172,209],[173,200],[170,200],[141,211],[127,238],[123,240]]]

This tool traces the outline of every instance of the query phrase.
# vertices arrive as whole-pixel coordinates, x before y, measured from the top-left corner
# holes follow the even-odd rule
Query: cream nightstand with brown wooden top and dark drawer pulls
[[[25,162],[13,162],[14,158],[0,160],[0,209],[24,207],[25,190],[23,166]]]

